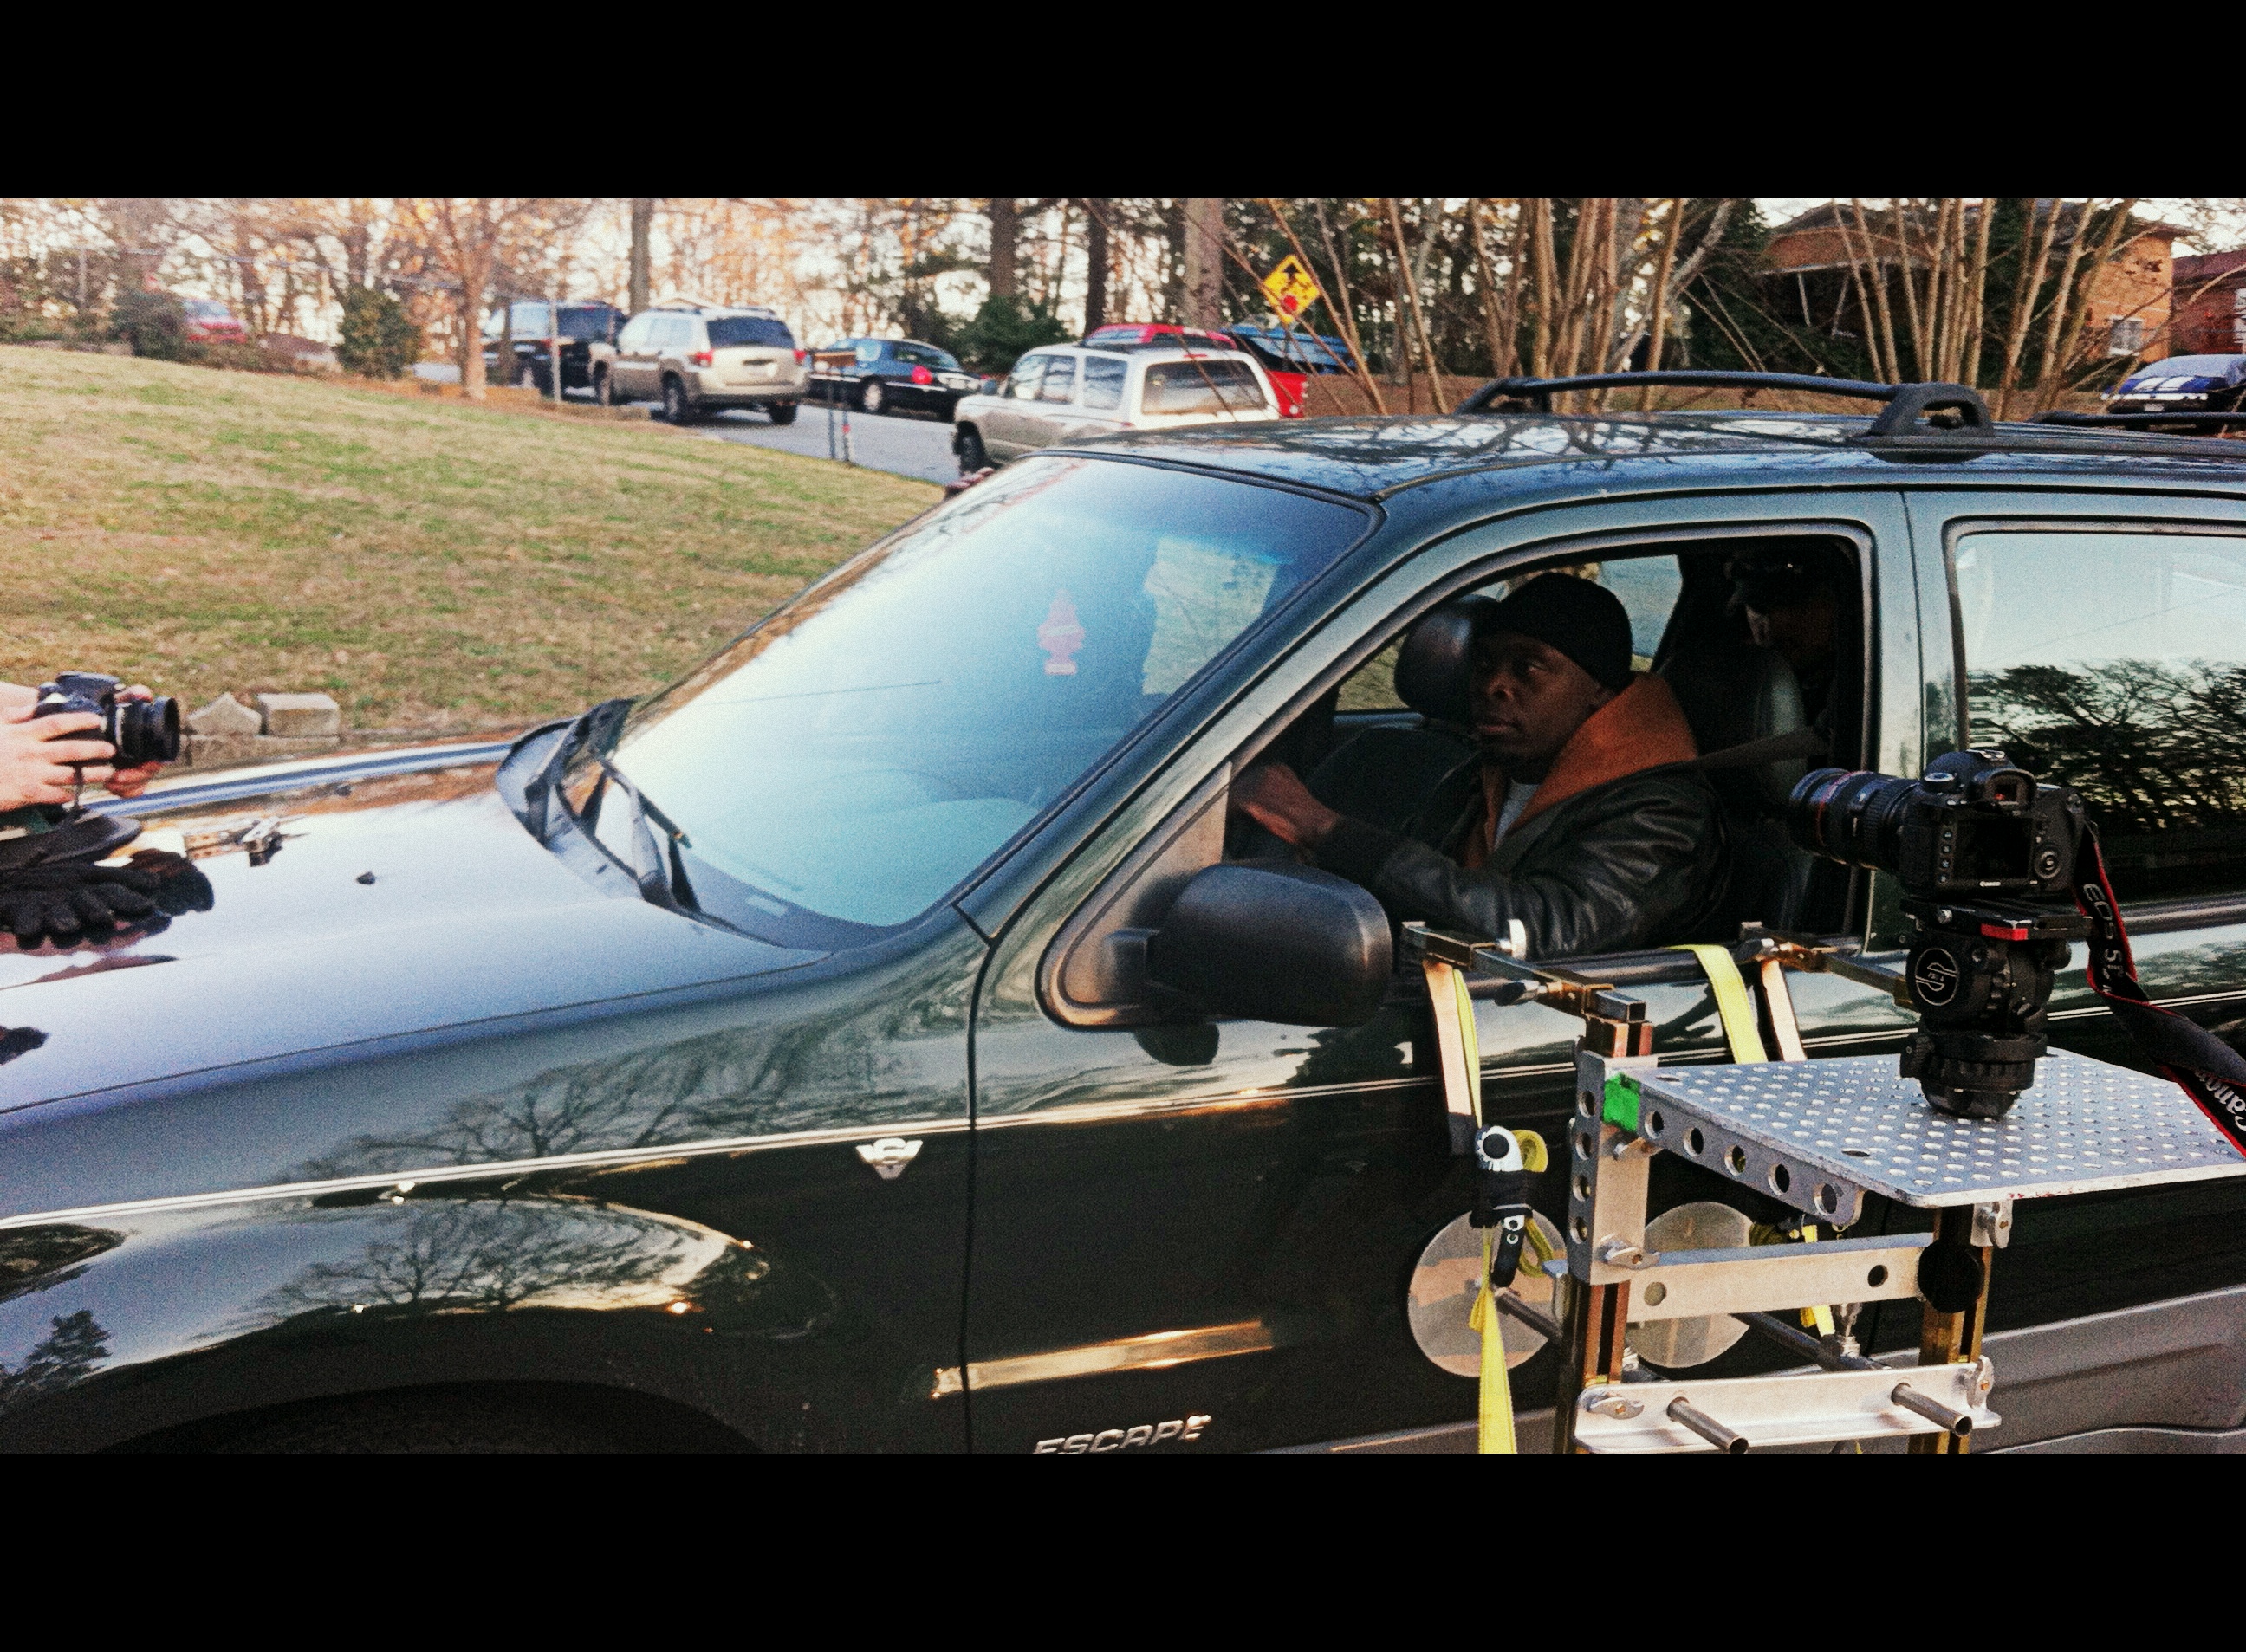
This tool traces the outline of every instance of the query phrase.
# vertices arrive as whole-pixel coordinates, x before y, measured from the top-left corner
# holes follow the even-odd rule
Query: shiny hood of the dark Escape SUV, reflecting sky
[[[593,889],[523,830],[494,768],[321,768],[139,808],[141,846],[195,855],[173,880],[186,909],[101,947],[0,936],[0,1111],[820,956]],[[272,817],[263,864],[225,846]]]

